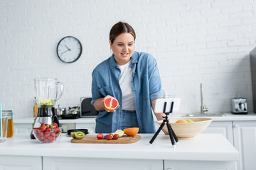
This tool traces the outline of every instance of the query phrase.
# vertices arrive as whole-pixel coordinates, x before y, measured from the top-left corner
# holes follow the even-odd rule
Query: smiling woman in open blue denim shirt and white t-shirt
[[[156,60],[145,52],[134,51],[136,34],[128,23],[116,23],[110,30],[112,56],[92,72],[92,105],[100,111],[95,132],[115,132],[139,127],[139,132],[154,133],[151,107],[162,98],[161,79]],[[114,97],[119,108],[108,111],[105,98]],[[155,114],[162,120],[164,113]]]

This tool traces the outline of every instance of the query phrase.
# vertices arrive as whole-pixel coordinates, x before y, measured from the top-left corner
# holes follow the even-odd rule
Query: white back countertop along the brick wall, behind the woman
[[[224,117],[203,116],[203,118],[212,118],[213,121],[233,121],[233,120],[256,120],[256,113],[248,113],[245,115],[235,115],[231,113],[224,113]],[[169,115],[169,118],[181,118],[184,114]],[[207,113],[206,113],[207,115]],[[182,117],[183,118],[183,117]],[[200,118],[200,117],[191,117]],[[14,123],[33,123],[34,118],[14,118]],[[95,118],[78,118],[78,119],[60,119],[60,123],[95,123]],[[155,120],[156,121],[156,120]]]

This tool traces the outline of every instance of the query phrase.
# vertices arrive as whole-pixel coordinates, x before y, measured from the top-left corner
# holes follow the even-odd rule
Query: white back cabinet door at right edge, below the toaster
[[[234,145],[238,149],[238,170],[256,167],[256,121],[233,121]]]

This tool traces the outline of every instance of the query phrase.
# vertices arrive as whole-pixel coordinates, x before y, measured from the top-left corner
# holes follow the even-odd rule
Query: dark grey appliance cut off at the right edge
[[[250,70],[252,76],[253,112],[256,113],[256,47],[250,52]]]

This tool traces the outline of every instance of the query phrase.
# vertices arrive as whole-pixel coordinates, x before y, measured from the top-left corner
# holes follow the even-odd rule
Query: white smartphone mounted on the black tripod
[[[164,111],[164,103],[166,102],[166,109]],[[171,102],[174,102],[172,113],[179,110],[181,98],[158,98],[154,108],[155,113],[169,113],[171,111]]]

